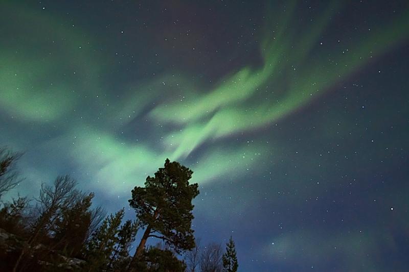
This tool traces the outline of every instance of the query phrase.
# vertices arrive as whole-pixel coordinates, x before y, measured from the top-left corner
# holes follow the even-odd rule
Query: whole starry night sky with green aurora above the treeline
[[[108,212],[166,158],[240,271],[409,265],[407,1],[2,1],[12,193],[69,174]],[[127,216],[133,216],[128,210]]]

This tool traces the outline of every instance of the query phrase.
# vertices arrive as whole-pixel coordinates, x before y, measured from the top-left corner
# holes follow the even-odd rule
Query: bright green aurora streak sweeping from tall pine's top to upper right
[[[312,45],[318,43],[319,34],[325,30],[328,24],[326,19],[330,18],[329,12],[324,13],[318,23],[311,26],[312,34],[303,33],[303,36],[297,37],[299,43],[296,43],[295,34],[283,37],[281,33],[284,30],[279,31],[281,35],[278,38],[271,33],[265,37],[264,47],[261,48],[264,59],[261,69],[244,67],[223,79],[208,93],[191,94],[193,97],[183,104],[176,101],[170,105],[155,107],[151,115],[161,122],[184,125],[180,131],[171,133],[165,141],[177,146],[172,156],[175,158],[187,156],[208,139],[230,136],[277,122],[325,94],[331,86],[405,39],[409,34],[409,22],[405,15],[374,33],[368,33],[367,37],[361,37],[361,42],[345,44],[346,48],[351,48],[348,54],[338,52],[331,60],[328,60],[325,51],[314,61],[305,60]],[[287,26],[285,28],[291,29]],[[293,43],[286,39],[292,36]],[[297,47],[291,47],[290,44],[296,44]],[[300,52],[303,55],[297,54]],[[267,84],[283,85],[280,82],[282,75],[277,71],[288,68],[288,63],[300,67],[289,71],[294,80],[284,89],[273,87],[277,94],[273,94],[269,100],[258,101],[256,105],[249,106],[251,96]],[[326,68],[322,69],[323,66]]]

